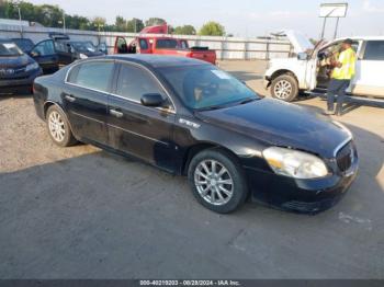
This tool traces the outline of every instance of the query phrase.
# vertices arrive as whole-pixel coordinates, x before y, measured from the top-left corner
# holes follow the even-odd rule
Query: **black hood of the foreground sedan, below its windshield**
[[[347,131],[321,115],[270,99],[197,112],[196,116],[267,145],[291,147],[324,158],[332,158],[340,144],[349,138]]]

